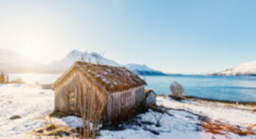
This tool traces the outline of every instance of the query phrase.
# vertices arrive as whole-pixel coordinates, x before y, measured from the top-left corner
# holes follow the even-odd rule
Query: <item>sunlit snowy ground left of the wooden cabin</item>
[[[42,115],[53,111],[53,90],[41,89],[29,84],[0,85],[0,138],[15,138],[45,121]],[[21,118],[10,120],[13,115]]]

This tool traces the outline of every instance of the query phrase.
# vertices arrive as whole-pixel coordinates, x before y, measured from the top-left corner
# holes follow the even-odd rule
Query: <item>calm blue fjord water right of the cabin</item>
[[[154,89],[159,95],[170,94],[169,85],[177,81],[184,87],[185,95],[256,102],[256,76],[166,75],[141,78],[146,81],[146,88]]]

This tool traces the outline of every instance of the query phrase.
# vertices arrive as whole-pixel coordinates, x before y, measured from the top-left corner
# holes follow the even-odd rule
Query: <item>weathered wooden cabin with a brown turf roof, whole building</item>
[[[104,121],[112,121],[128,115],[136,106],[144,106],[145,85],[125,67],[77,61],[53,84],[55,110],[79,115],[79,99],[94,93],[104,105]]]

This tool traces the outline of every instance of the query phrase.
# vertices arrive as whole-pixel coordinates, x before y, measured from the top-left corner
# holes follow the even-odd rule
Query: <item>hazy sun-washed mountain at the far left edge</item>
[[[46,72],[44,64],[31,61],[12,50],[0,49],[1,72]]]

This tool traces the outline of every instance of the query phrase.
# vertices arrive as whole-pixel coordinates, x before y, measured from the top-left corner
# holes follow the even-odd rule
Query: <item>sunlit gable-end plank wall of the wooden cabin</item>
[[[107,95],[81,74],[83,73],[74,69],[70,72],[70,75],[55,88],[55,110],[79,115],[81,94],[87,95],[88,92],[95,93],[102,104],[107,103]],[[72,104],[70,104],[70,93],[73,93]],[[70,105],[73,105],[73,109],[70,109]],[[104,112],[107,111],[105,109]]]

